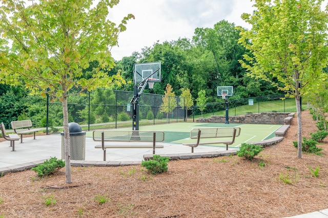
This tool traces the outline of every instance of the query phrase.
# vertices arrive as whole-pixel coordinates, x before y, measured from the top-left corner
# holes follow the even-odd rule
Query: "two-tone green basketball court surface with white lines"
[[[163,131],[165,133],[165,142],[186,143],[194,141],[189,138],[190,130],[193,128],[239,127],[241,129],[240,136],[236,137],[235,142],[229,146],[239,147],[241,143],[261,141],[264,139],[272,138],[275,136],[275,131],[281,126],[282,125],[275,124],[172,123],[153,126],[141,126],[139,127],[139,130]],[[132,127],[120,128],[118,130],[132,130]],[[92,137],[92,131],[87,132],[87,137]],[[219,144],[217,146],[224,145]]]

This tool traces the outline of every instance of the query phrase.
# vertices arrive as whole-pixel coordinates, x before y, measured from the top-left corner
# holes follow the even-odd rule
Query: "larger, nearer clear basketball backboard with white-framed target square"
[[[134,64],[134,83],[148,78],[153,82],[161,81],[160,62]]]

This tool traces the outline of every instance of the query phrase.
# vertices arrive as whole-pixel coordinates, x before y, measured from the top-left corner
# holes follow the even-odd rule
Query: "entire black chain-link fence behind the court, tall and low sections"
[[[132,98],[131,91],[109,89],[85,92],[84,96],[69,96],[69,122],[78,123],[83,130],[132,128]],[[139,125],[195,122],[199,117],[226,115],[226,104],[223,99],[206,104],[205,107],[193,106],[188,110],[185,109],[183,102],[184,99],[177,96],[142,93],[138,101]],[[48,101],[47,105],[47,133],[63,131],[61,103]],[[229,100],[229,116],[295,111],[295,99],[285,98],[283,95]]]

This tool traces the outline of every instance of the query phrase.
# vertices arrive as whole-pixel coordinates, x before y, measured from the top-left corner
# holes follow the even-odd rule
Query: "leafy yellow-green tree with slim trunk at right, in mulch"
[[[327,64],[327,14],[320,9],[322,0],[255,0],[253,15],[242,14],[252,25],[239,28],[239,42],[251,52],[242,66],[255,78],[274,83],[287,96],[295,98],[298,123],[297,156],[302,157],[300,97],[317,80],[323,80]]]

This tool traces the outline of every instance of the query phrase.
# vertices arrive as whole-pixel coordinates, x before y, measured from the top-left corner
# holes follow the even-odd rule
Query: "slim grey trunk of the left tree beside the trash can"
[[[67,96],[63,94],[63,126],[64,126],[64,155],[65,155],[65,174],[66,183],[72,183],[71,174],[71,152],[70,152],[70,132],[68,128],[68,107],[67,107]]]

